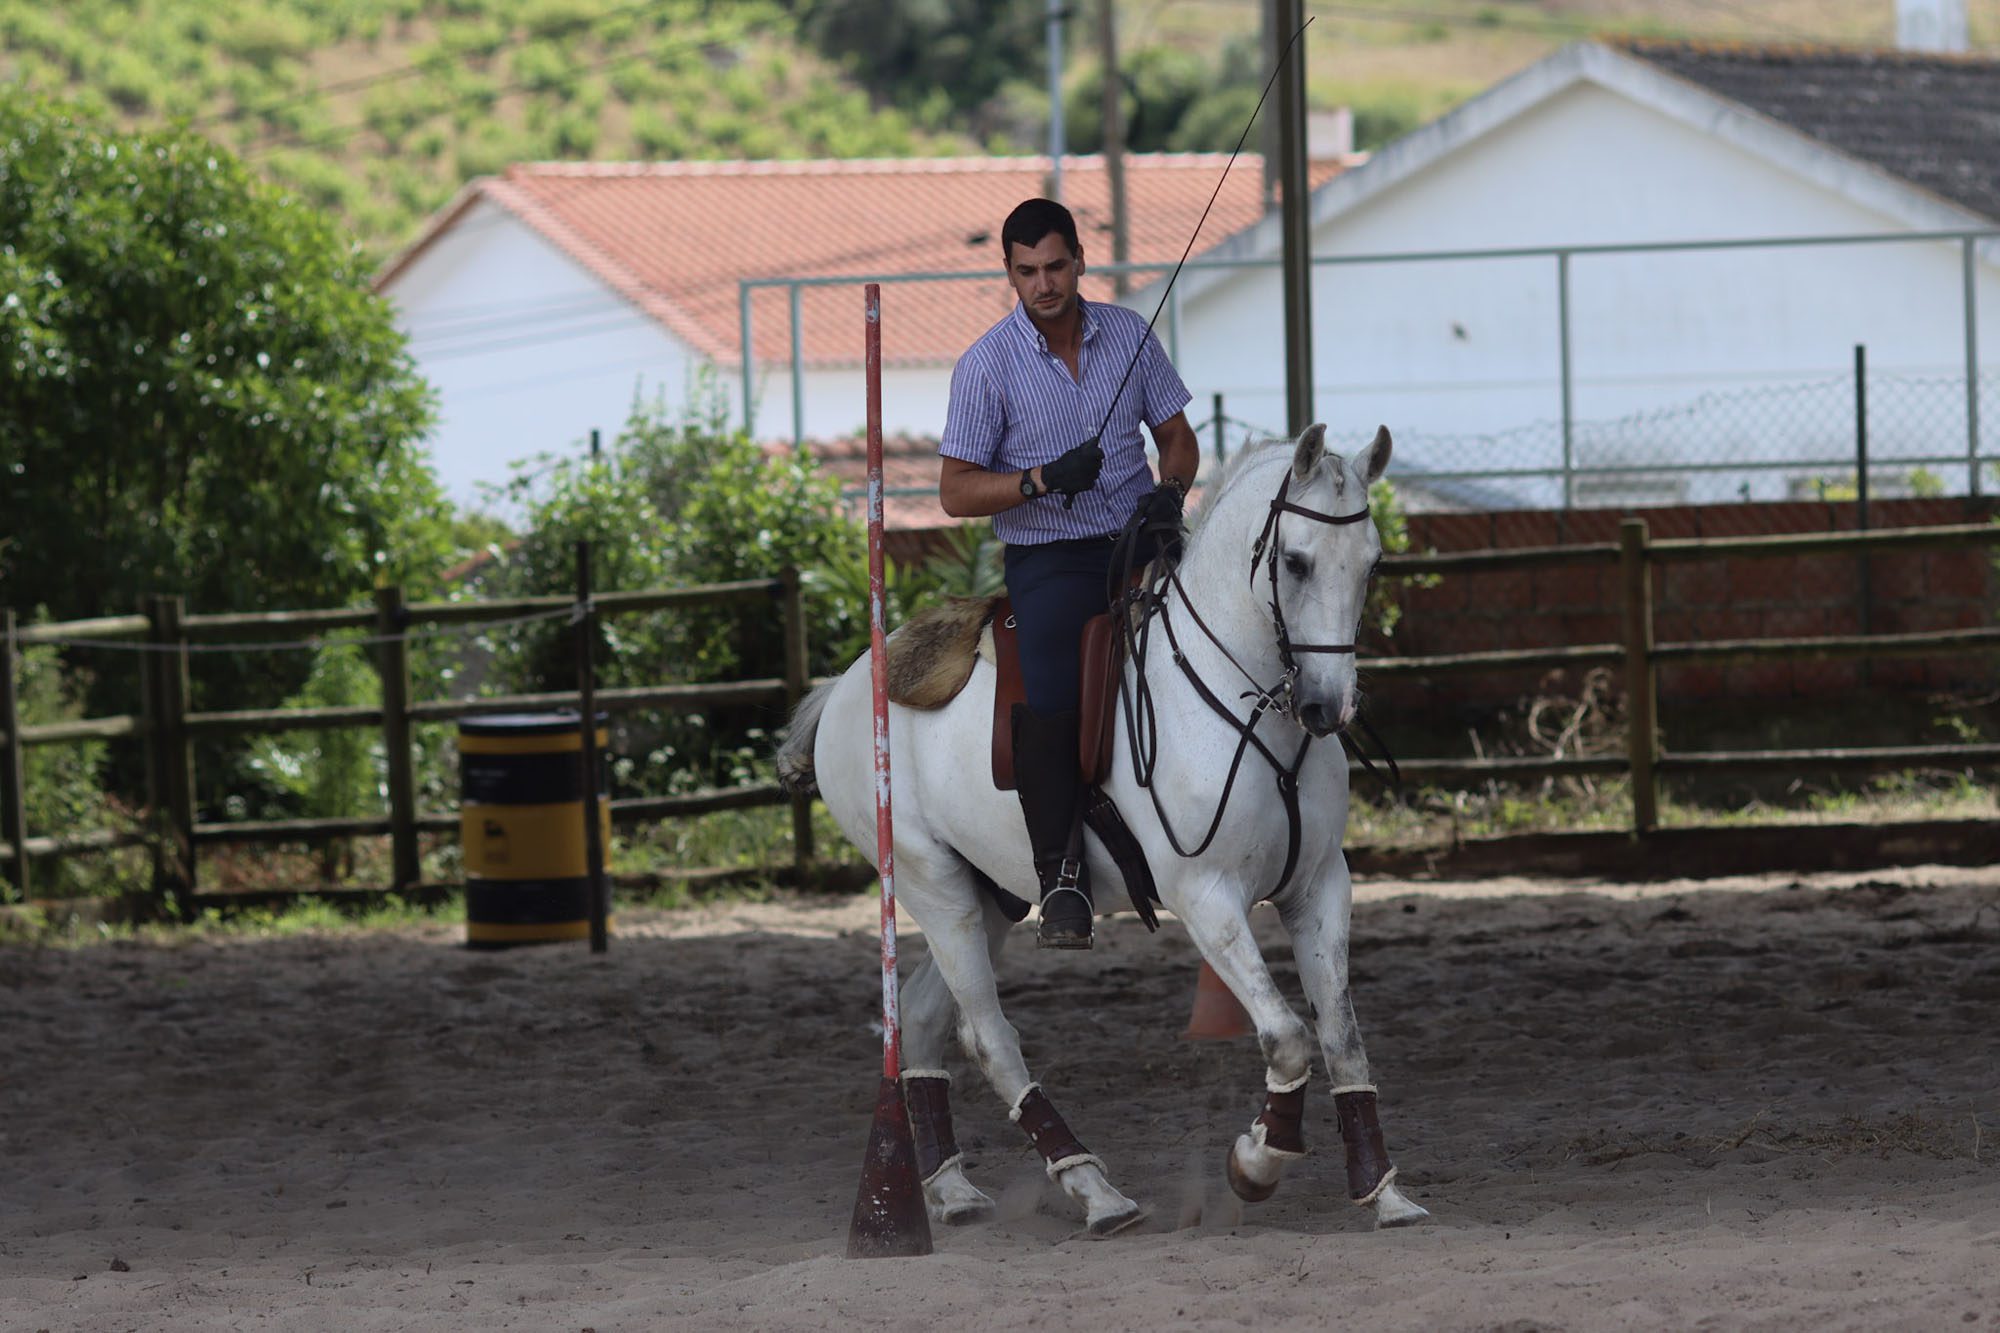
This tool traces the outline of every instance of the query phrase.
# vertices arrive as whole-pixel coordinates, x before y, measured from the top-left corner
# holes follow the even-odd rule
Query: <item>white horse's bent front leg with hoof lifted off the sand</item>
[[[1184,915],[1202,957],[1256,1023],[1264,1049],[1264,1109],[1236,1137],[1226,1159],[1230,1189],[1258,1203],[1278,1189],[1284,1167],[1306,1155],[1304,1103],[1312,1073],[1312,1029],[1292,1013],[1250,935],[1242,895],[1212,885]]]

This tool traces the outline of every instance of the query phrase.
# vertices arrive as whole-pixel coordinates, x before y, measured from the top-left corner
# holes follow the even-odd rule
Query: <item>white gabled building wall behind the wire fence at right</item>
[[[1582,84],[1322,222],[1314,252],[1908,228]],[[1552,256],[1316,268],[1316,414],[1340,436],[1388,422],[1406,472],[1560,466],[1556,268]],[[1996,302],[2000,278],[1982,266],[1978,304]],[[1868,346],[1872,374],[1898,380],[1870,404],[1874,456],[1962,454],[1960,312],[1956,244],[1574,256],[1574,456],[1586,464],[1824,456],[1852,468],[1856,344]],[[1190,414],[1208,416],[1210,396],[1222,392],[1230,418],[1278,432],[1286,424],[1278,272],[1246,270],[1186,296],[1180,326],[1180,368],[1196,392]],[[1992,354],[1984,360],[1990,366]],[[1958,380],[1958,388],[1902,380]],[[1634,420],[1648,412],[1666,418]],[[1230,426],[1232,442],[1242,434],[1242,424]],[[1776,498],[1798,472],[1690,480],[1680,494],[1736,498],[1748,482],[1758,498]],[[1964,468],[1954,476],[1962,484]],[[1634,486],[1626,498],[1668,498]],[[1514,490],[1536,502],[1560,494]]]

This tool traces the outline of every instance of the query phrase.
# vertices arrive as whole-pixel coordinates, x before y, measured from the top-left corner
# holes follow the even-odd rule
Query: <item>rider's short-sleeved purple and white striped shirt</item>
[[[1152,488],[1140,422],[1158,426],[1194,396],[1136,310],[1082,298],[1076,304],[1084,314],[1076,358],[1080,382],[1048,350],[1048,338],[1020,304],[952,368],[938,452],[990,472],[1020,472],[1054,462],[1088,440],[1138,356],[1132,378],[1118,392],[1118,410],[1104,426],[1098,484],[1076,496],[1074,508],[1064,508],[1060,494],[1044,494],[994,514],[994,536],[1010,546],[1118,532]]]

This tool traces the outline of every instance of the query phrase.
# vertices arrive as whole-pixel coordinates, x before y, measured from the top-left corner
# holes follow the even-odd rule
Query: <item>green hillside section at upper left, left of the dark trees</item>
[[[918,130],[736,0],[0,0],[0,78],[188,120],[384,252],[530,158],[902,156]]]

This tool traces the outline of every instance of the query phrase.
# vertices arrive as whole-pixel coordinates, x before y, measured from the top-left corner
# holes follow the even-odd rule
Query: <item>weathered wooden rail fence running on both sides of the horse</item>
[[[1938,630],[1926,634],[1838,634],[1824,638],[1732,638],[1710,642],[1654,642],[1652,568],[1716,558],[1802,556],[1828,552],[1876,552],[1920,548],[1964,548],[2000,544],[1996,524],[1950,524],[1928,528],[1882,528],[1874,532],[1810,532],[1788,536],[1676,538],[1650,540],[1642,518],[1620,524],[1618,542],[1530,546],[1512,550],[1470,550],[1454,554],[1402,554],[1382,562],[1386,574],[1464,574],[1522,570],[1560,564],[1618,566],[1624,588],[1622,642],[1518,648],[1498,652],[1458,652],[1448,656],[1368,658],[1376,675],[1446,675],[1468,671],[1508,671],[1526,666],[1610,666],[1620,664],[1628,697],[1628,737],[1622,757],[1524,757],[1524,759],[1406,759],[1402,771],[1416,779],[1534,779],[1584,773],[1624,773],[1632,777],[1632,831],[1640,837],[1658,827],[1658,775],[1754,771],[1788,765],[1846,769],[1900,769],[1912,765],[1992,765],[2000,745],[1900,745],[1872,749],[1802,751],[1666,751],[1658,737],[1658,683],[1662,662],[1742,660],[1742,658],[1840,658],[1918,656],[1936,652],[1992,652],[2000,648],[2000,628]],[[606,592],[594,598],[590,614],[646,612],[696,604],[728,604],[772,598],[784,616],[784,677],[716,685],[662,685],[596,693],[604,713],[632,709],[700,711],[714,705],[792,705],[814,685],[806,677],[806,636],[798,574],[708,584],[700,588],[658,588]],[[394,843],[398,883],[414,879],[416,835],[454,829],[456,815],[414,809],[414,781],[408,765],[408,731],[416,723],[440,723],[480,713],[516,713],[572,705],[570,695],[506,695],[462,701],[408,699],[406,630],[412,624],[472,624],[504,620],[574,606],[574,598],[526,596],[492,602],[412,602],[386,590],[372,610],[294,610],[258,614],[182,612],[178,598],[154,598],[142,616],[100,616],[66,624],[16,626],[6,612],[6,671],[0,671],[0,863],[16,895],[28,893],[28,863],[66,851],[118,847],[140,835],[80,833],[62,839],[28,837],[24,823],[22,753],[36,745],[60,745],[116,737],[144,737],[148,747],[148,805],[164,813],[166,835],[154,839],[156,883],[192,893],[194,847],[216,843],[298,841],[346,835],[388,835]],[[378,671],[384,679],[380,709],[252,709],[236,713],[188,711],[188,646],[226,642],[236,636],[284,636],[338,628],[372,628],[378,642]],[[144,711],[138,717],[84,719],[22,727],[14,693],[18,650],[34,644],[78,638],[122,638],[144,634],[160,652],[148,654]],[[290,819],[260,823],[196,823],[192,783],[192,739],[208,735],[270,735],[280,731],[368,727],[382,729],[390,743],[390,811],[372,819]],[[638,821],[700,815],[722,809],[782,805],[786,795],[774,785],[736,791],[690,793],[682,797],[642,797],[612,803],[612,819]],[[800,865],[810,861],[810,807],[792,803],[794,843]],[[22,855],[24,849],[26,855]]]

